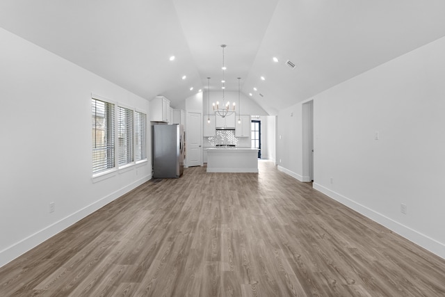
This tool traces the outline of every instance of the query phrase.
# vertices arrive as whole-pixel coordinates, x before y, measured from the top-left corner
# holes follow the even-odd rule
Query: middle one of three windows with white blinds
[[[118,106],[118,163],[119,166],[133,162],[133,111]]]

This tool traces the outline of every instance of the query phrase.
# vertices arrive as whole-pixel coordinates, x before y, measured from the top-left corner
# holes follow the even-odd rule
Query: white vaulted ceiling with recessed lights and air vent
[[[271,115],[445,36],[444,15],[442,0],[0,1],[3,29],[172,106],[207,77],[220,90],[225,44],[226,90],[241,77]]]

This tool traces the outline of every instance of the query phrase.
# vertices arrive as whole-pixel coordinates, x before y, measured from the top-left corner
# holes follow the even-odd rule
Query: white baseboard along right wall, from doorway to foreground
[[[421,246],[422,248],[425,248],[426,250],[429,250],[435,255],[445,259],[444,243],[441,243],[435,239],[432,239],[430,236],[422,234],[416,230],[413,230],[410,227],[398,223],[396,220],[388,218],[387,216],[380,214],[377,211],[370,209],[369,207],[365,207],[364,205],[359,204],[335,191],[332,191],[329,188],[322,186],[321,184],[316,184],[314,182],[313,187],[317,191],[320,191],[321,193],[336,200],[337,202],[340,202],[346,207],[349,207],[350,209],[357,211],[359,214],[362,214],[367,218],[371,218],[371,220],[375,221],[376,223],[379,223],[380,225],[387,227],[389,230],[405,237],[405,239],[408,239],[409,241],[412,241],[416,245]]]

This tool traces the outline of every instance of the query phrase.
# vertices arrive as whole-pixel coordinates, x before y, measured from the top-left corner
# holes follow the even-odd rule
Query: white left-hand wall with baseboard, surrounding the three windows
[[[147,113],[148,101],[3,29],[0,40],[3,266],[147,181],[151,161],[92,183],[91,93]]]

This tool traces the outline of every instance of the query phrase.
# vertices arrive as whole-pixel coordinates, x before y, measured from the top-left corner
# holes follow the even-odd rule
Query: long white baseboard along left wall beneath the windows
[[[32,248],[35,248],[35,246],[38,246],[40,243],[46,241],[52,236],[65,230],[67,227],[70,227],[74,223],[79,222],[79,220],[92,214],[101,207],[104,207],[106,204],[120,198],[120,196],[133,190],[133,188],[136,188],[141,184],[149,181],[149,179],[152,179],[152,175],[147,175],[145,177],[142,177],[136,180],[135,182],[127,186],[124,186],[123,188],[120,188],[117,191],[114,191],[113,193],[110,193],[105,197],[96,200],[95,202],[92,202],[88,206],[83,207],[78,211],[75,211],[69,216],[66,216],[65,218],[62,218],[56,221],[55,223],[52,223],[51,225],[44,227],[42,230],[35,232],[34,234],[31,234],[30,236],[22,239],[21,241],[18,241],[17,243],[14,243],[12,246],[9,246],[8,248],[1,250],[0,267],[8,264],[9,262],[13,261],[13,259],[19,257],[20,255],[23,255],[25,252],[28,252]]]

